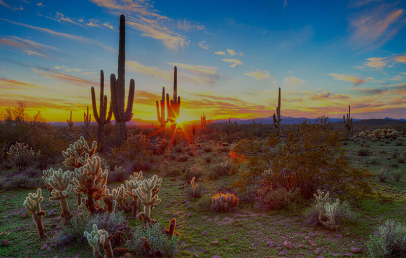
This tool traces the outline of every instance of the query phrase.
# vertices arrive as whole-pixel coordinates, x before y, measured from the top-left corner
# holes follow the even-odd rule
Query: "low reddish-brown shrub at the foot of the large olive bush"
[[[294,203],[299,196],[299,188],[296,188],[295,190],[286,190],[285,188],[269,190],[263,195],[258,195],[258,208],[263,210],[282,209],[289,204]]]

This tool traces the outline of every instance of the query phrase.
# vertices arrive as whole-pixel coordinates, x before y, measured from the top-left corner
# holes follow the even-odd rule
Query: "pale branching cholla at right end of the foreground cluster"
[[[151,179],[144,179],[140,187],[132,190],[133,194],[137,194],[141,203],[144,205],[144,211],[138,214],[138,219],[146,225],[151,222],[151,206],[161,202],[158,198],[162,179],[154,175]]]

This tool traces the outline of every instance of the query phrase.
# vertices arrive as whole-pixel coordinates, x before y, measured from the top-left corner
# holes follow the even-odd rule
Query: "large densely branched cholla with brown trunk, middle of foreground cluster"
[[[105,196],[107,189],[107,176],[109,170],[104,171],[100,167],[100,158],[95,156],[87,159],[86,164],[75,169],[76,177],[73,179],[74,190],[77,193],[87,194],[85,203],[78,206],[79,209],[87,209],[90,214],[101,211],[98,207],[101,197]]]

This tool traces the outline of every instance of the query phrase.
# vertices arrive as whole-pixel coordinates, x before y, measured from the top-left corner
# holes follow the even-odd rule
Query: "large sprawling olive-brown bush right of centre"
[[[371,194],[369,170],[350,165],[341,140],[339,131],[316,123],[301,124],[299,134],[288,135],[284,144],[275,134],[266,141],[240,140],[230,148],[233,170],[238,171],[232,186],[244,189],[254,184],[258,189],[262,182],[273,189],[300,188],[304,198],[317,189],[354,197]],[[270,168],[273,176],[265,181],[261,174]]]

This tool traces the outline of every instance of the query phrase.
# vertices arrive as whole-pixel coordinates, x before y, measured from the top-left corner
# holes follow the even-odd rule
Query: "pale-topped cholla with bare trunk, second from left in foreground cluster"
[[[50,193],[49,200],[59,200],[60,208],[62,210],[60,217],[63,219],[64,223],[67,224],[73,215],[69,210],[66,198],[69,197],[69,192],[72,191],[73,186],[71,180],[74,178],[75,173],[74,171],[62,171],[61,168],[59,168],[59,170],[51,168],[44,170],[43,173],[43,179],[47,176],[47,178],[44,179],[46,185],[49,185],[53,189]]]

